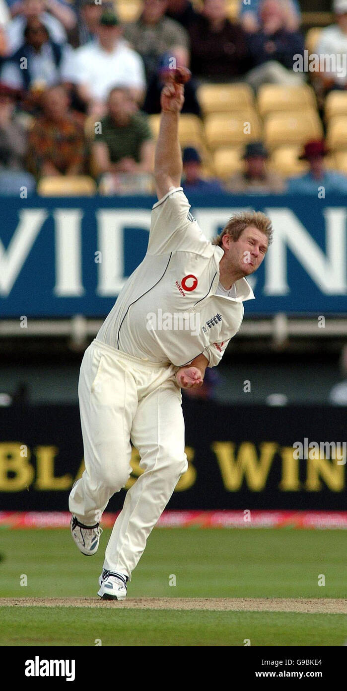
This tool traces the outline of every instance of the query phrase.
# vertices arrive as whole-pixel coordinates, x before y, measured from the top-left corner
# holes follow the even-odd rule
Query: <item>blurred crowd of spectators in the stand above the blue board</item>
[[[347,155],[335,156],[341,146],[347,151],[346,100],[339,102],[337,134],[330,135],[325,117],[329,95],[347,90],[346,70],[338,59],[335,70],[293,70],[294,56],[304,59],[306,47],[297,0],[239,0],[236,20],[226,0],[141,0],[134,21],[122,21],[117,2],[0,0],[0,194],[23,186],[30,194],[42,178],[57,176],[89,176],[106,194],[151,193],[161,88],[176,65],[192,72],[183,115],[198,121],[189,121],[191,137],[187,121],[181,140],[186,193],[317,195],[319,185],[347,191]],[[333,0],[332,9],[335,20],[319,33],[315,52],[346,60],[347,0]],[[208,138],[214,111],[213,104],[206,111],[201,96],[206,84],[247,85],[250,93],[230,110],[216,102],[215,113],[224,115],[219,135],[225,122],[229,147],[230,171],[227,163],[223,173],[216,164],[221,147]],[[292,168],[276,166],[280,157],[267,133],[271,117],[286,113],[276,103],[261,113],[267,84],[288,89],[288,117],[293,90],[302,87],[313,103],[311,135],[280,142],[282,149],[297,145]],[[229,140],[232,113],[258,124]]]

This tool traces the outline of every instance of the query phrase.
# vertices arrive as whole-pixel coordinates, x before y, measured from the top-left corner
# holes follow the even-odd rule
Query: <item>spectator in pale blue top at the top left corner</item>
[[[46,12],[45,0],[22,0],[21,13],[6,26],[9,55],[15,53],[23,44],[24,31],[28,20],[31,19],[39,19],[46,26],[51,41],[59,45],[66,43],[66,30],[59,19]]]

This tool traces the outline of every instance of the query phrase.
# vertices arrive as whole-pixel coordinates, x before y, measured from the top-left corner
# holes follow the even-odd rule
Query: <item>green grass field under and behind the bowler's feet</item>
[[[97,598],[99,552],[67,530],[0,532],[0,596]],[[28,585],[21,586],[23,575]],[[325,586],[319,586],[319,576]],[[170,586],[172,575],[176,586]],[[346,533],[293,529],[155,529],[130,598],[345,598]],[[117,607],[117,605],[116,605]],[[344,645],[344,614],[1,607],[0,645]]]

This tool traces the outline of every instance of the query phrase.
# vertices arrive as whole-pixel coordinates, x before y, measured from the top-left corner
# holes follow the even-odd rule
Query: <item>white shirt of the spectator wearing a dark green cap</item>
[[[125,41],[119,41],[112,53],[98,41],[75,50],[63,66],[63,79],[87,86],[94,100],[105,101],[112,86],[146,89],[143,61]]]

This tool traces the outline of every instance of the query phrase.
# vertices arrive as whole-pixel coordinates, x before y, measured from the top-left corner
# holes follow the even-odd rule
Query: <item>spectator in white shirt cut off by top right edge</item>
[[[335,0],[334,11],[336,23],[321,31],[317,45],[318,55],[328,55],[330,62],[335,58],[335,70],[317,75],[324,96],[332,89],[347,88],[346,62],[343,62],[347,53],[347,0]]]

